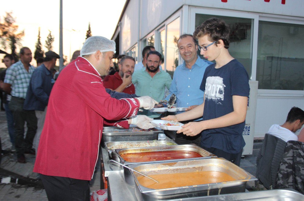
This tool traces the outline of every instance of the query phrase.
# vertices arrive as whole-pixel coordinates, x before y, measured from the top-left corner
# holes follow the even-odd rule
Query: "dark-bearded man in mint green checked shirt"
[[[132,75],[132,83],[136,84],[137,96],[150,96],[154,100],[160,101],[164,98],[165,87],[170,89],[171,76],[159,69],[161,53],[150,51],[146,58],[146,68],[137,70]],[[161,114],[143,111],[143,114],[150,118],[160,118]]]

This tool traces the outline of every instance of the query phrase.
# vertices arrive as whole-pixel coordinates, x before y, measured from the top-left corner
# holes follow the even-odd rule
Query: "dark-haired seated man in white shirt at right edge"
[[[289,140],[298,141],[298,136],[294,134],[304,124],[304,111],[299,107],[292,107],[288,112],[287,119],[281,126],[273,124],[267,133],[281,138],[285,142]]]

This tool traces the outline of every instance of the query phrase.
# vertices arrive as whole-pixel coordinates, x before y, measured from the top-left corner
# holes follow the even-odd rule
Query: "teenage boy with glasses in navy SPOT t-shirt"
[[[201,55],[216,62],[207,67],[200,86],[204,102],[163,119],[186,121],[203,116],[203,121],[189,122],[177,133],[195,136],[202,131],[202,148],[239,166],[245,146],[242,131],[250,90],[248,73],[228,52],[230,29],[223,20],[206,20],[193,36],[198,39]]]

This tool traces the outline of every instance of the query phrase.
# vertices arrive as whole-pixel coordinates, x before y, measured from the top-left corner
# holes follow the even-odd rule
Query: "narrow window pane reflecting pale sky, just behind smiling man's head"
[[[166,53],[166,70],[173,77],[175,68],[178,66],[178,47],[177,40],[180,36],[180,19],[179,17],[167,25],[167,53]]]

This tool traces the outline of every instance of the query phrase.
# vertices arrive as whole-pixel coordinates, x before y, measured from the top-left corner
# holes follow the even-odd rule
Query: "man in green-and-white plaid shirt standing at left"
[[[27,88],[35,68],[30,64],[32,52],[28,47],[20,49],[20,60],[6,70],[3,90],[12,95],[9,108],[13,113],[15,147],[17,161],[25,163],[24,153],[34,154],[32,149],[33,139],[37,129],[37,118],[34,110],[24,110],[23,103]],[[24,123],[27,125],[26,137],[24,138]]]

